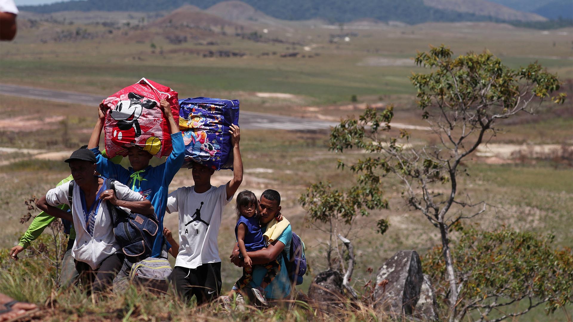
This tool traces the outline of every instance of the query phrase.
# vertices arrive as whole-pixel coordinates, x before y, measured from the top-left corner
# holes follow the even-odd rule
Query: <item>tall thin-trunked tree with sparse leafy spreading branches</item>
[[[391,128],[393,117],[390,106],[383,112],[367,108],[359,119],[343,120],[331,132],[330,148],[366,151],[367,158],[353,164],[340,162],[339,166],[360,175],[362,191],[380,189],[385,175],[397,176],[407,203],[439,229],[449,282],[449,319],[459,320],[458,294],[464,281],[450,252],[450,229],[487,207],[483,201],[472,202],[469,196],[458,194],[460,163],[497,134],[497,121],[520,112],[534,113],[537,103],[557,91],[560,83],[537,63],[512,70],[489,52],[454,58],[444,45],[418,53],[415,62],[431,69],[410,79],[417,89],[422,117],[439,143],[412,147],[406,131],[401,131],[399,138],[386,138],[384,132]],[[552,100],[563,103],[565,95]]]

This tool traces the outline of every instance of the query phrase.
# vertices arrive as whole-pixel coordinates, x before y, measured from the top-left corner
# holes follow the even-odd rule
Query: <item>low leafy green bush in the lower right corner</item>
[[[553,239],[553,235],[541,238],[505,227],[495,231],[473,227],[462,230],[452,248],[455,270],[464,281],[458,304],[460,319],[477,311],[478,321],[497,322],[523,315],[544,303],[548,313],[571,304],[573,252],[554,250]],[[447,280],[441,245],[430,250],[422,264],[431,279]],[[441,299],[447,298],[448,292],[446,284],[437,285]],[[520,301],[527,307],[507,312]]]

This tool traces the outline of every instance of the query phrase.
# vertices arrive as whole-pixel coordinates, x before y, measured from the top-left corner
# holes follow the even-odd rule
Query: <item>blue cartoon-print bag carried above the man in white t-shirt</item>
[[[239,124],[239,101],[195,97],[179,100],[179,129],[183,131],[185,162],[214,170],[233,168],[229,126]]]

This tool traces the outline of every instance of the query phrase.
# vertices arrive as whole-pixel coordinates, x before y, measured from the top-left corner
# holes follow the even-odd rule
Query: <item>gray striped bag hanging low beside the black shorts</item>
[[[135,285],[143,285],[155,294],[167,293],[171,264],[164,258],[147,257],[131,266],[129,280]]]

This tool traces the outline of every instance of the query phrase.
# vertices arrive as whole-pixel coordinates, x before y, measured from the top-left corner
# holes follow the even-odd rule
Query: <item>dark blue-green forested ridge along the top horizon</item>
[[[435,0],[426,0],[435,1]],[[356,19],[373,18],[380,21],[402,21],[410,24],[430,21],[499,21],[501,18],[492,15],[496,9],[476,10],[468,8],[472,0],[448,0],[462,3],[463,11],[450,7],[428,6],[424,0],[244,0],[245,3],[279,19],[307,20],[321,18],[331,22],[349,22]],[[477,1],[477,0],[476,0]],[[480,0],[486,3],[485,0]],[[34,13],[53,13],[57,11],[164,11],[173,10],[183,5],[194,5],[200,9],[207,9],[221,0],[87,0],[57,2],[40,6],[21,6],[22,11]],[[486,3],[487,4],[487,3]],[[493,3],[490,3],[493,5]],[[509,12],[509,9],[504,9]],[[512,15],[511,17],[516,17]],[[530,19],[522,15],[522,19]],[[512,18],[513,19],[513,18]]]

